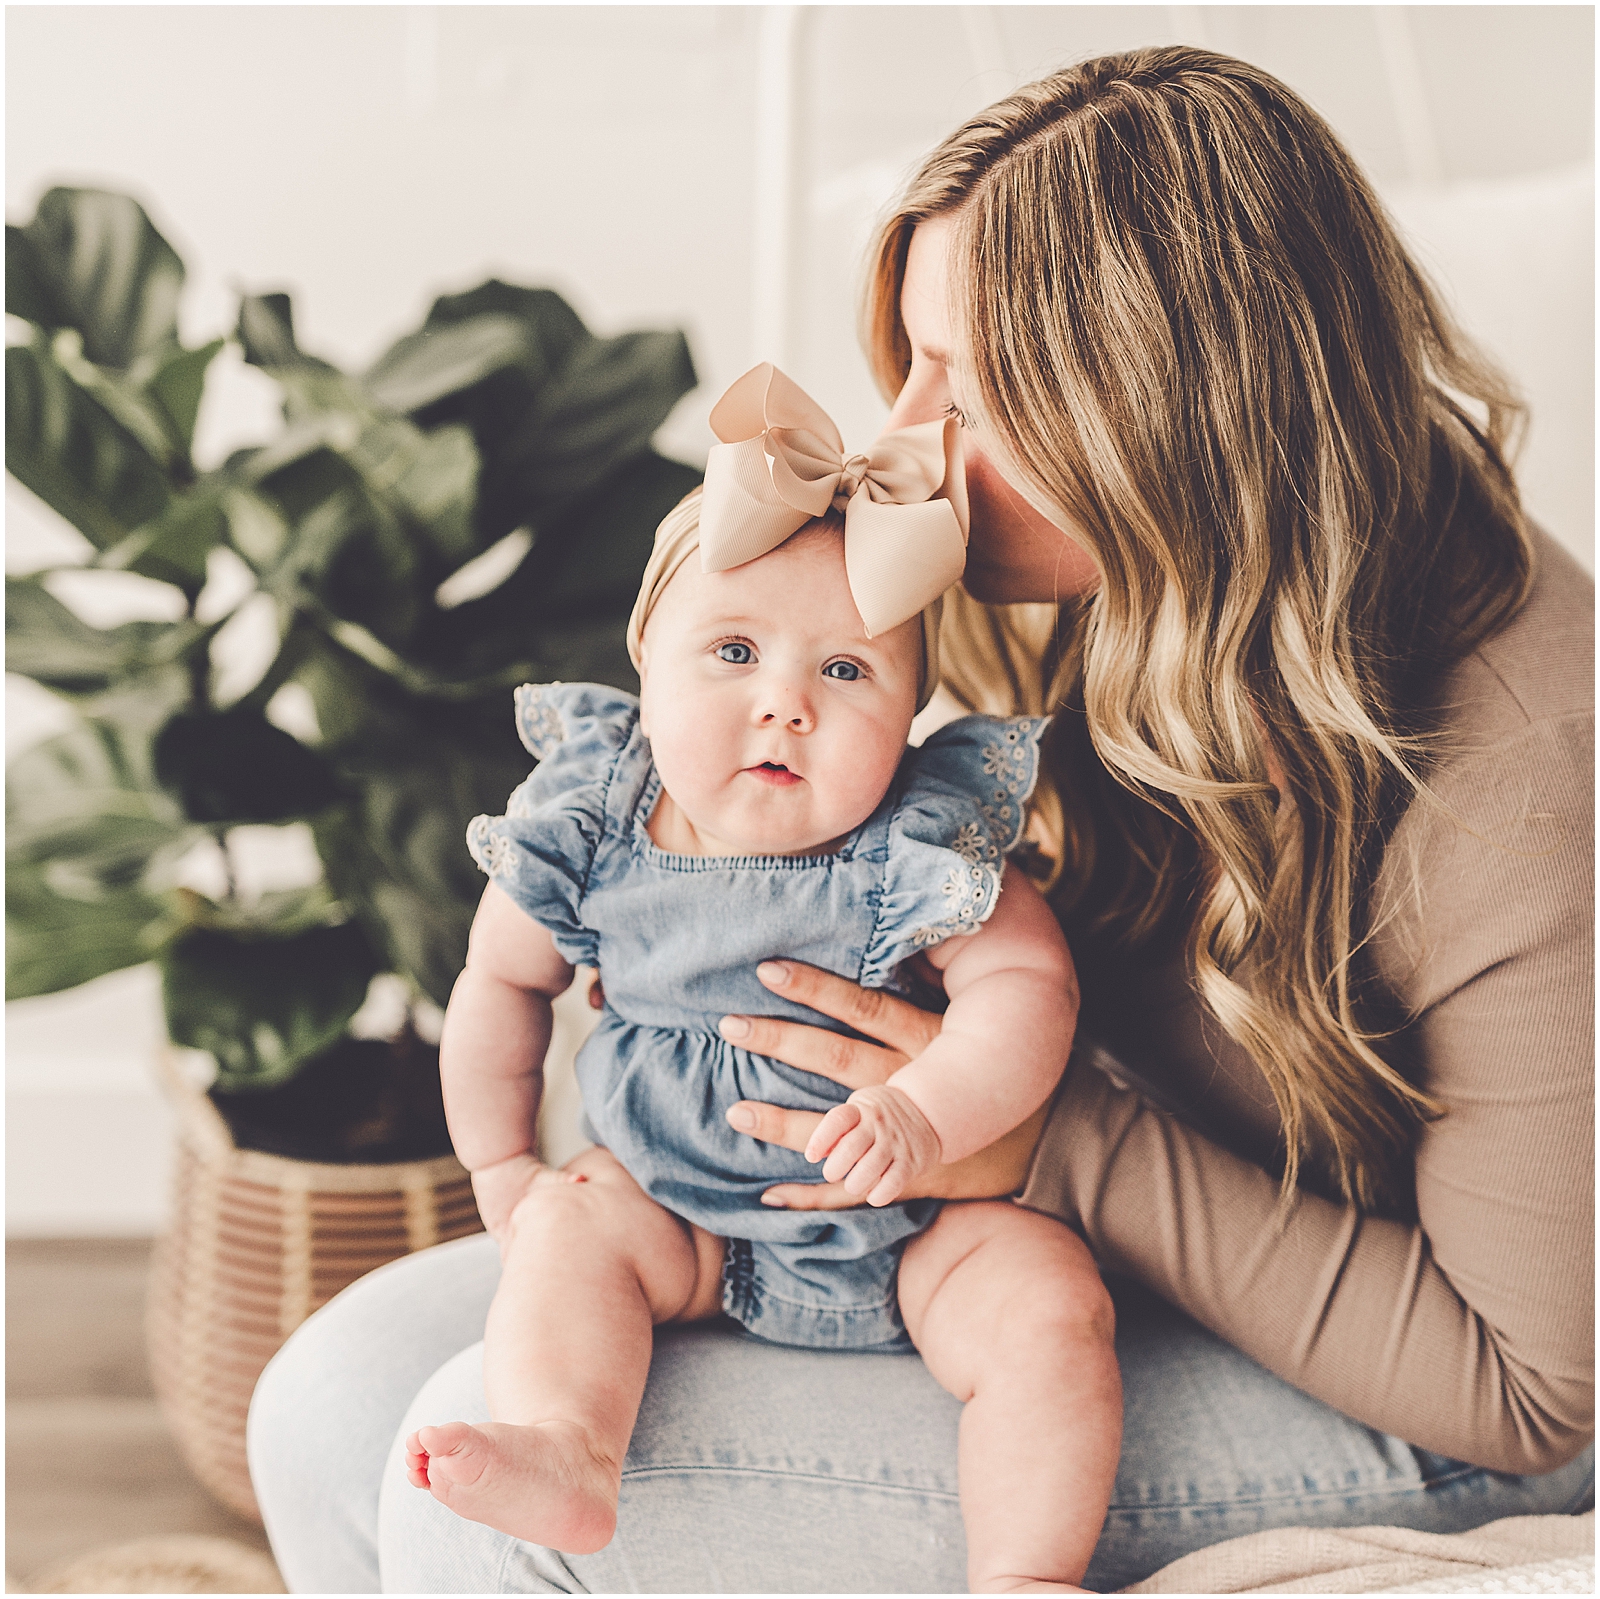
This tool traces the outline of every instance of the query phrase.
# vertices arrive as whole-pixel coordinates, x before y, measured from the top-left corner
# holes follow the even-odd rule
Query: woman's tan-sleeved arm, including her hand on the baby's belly
[[[1414,805],[1386,856],[1379,964],[1448,1108],[1418,1141],[1418,1223],[1306,1192],[1285,1215],[1274,1176],[1090,1066],[1062,1082],[1022,1194],[1296,1388],[1509,1473],[1550,1471],[1594,1436],[1590,751],[1587,725],[1507,733],[1434,783],[1450,810]],[[754,1021],[747,1047],[850,1087],[885,1080],[939,1024],[794,962],[770,986],[898,1045]],[[816,1124],[760,1104],[730,1120],[795,1149]],[[1002,1144],[915,1192],[1013,1191],[1032,1138]],[[784,1184],[773,1200],[851,1196]]]

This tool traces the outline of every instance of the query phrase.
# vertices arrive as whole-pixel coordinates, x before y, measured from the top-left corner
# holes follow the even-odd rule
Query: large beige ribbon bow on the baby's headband
[[[701,491],[701,568],[726,571],[776,549],[829,506],[845,512],[845,575],[867,637],[931,605],[966,565],[966,475],[957,423],[883,434],[845,455],[832,418],[771,362],[710,413]]]

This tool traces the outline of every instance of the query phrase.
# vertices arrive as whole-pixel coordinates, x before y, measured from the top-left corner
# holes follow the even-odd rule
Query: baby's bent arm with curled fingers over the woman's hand
[[[822,1176],[888,1205],[936,1165],[986,1149],[1050,1096],[1078,1020],[1078,981],[1061,928],[1018,871],[971,936],[928,951],[950,1008],[939,1036],[886,1084],[858,1088],[806,1144]]]

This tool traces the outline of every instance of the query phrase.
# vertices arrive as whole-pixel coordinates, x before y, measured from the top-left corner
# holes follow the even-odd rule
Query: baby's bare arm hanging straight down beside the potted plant
[[[501,1237],[544,1167],[534,1154],[550,1000],[573,981],[549,932],[490,884],[438,1044],[445,1120],[472,1173],[483,1224]]]

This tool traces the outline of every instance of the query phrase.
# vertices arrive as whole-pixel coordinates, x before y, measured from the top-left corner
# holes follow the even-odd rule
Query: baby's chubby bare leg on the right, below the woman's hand
[[[1086,1245],[1003,1200],[946,1205],[906,1247],[899,1301],[966,1405],[971,1591],[1082,1591],[1122,1449],[1115,1316]]]

